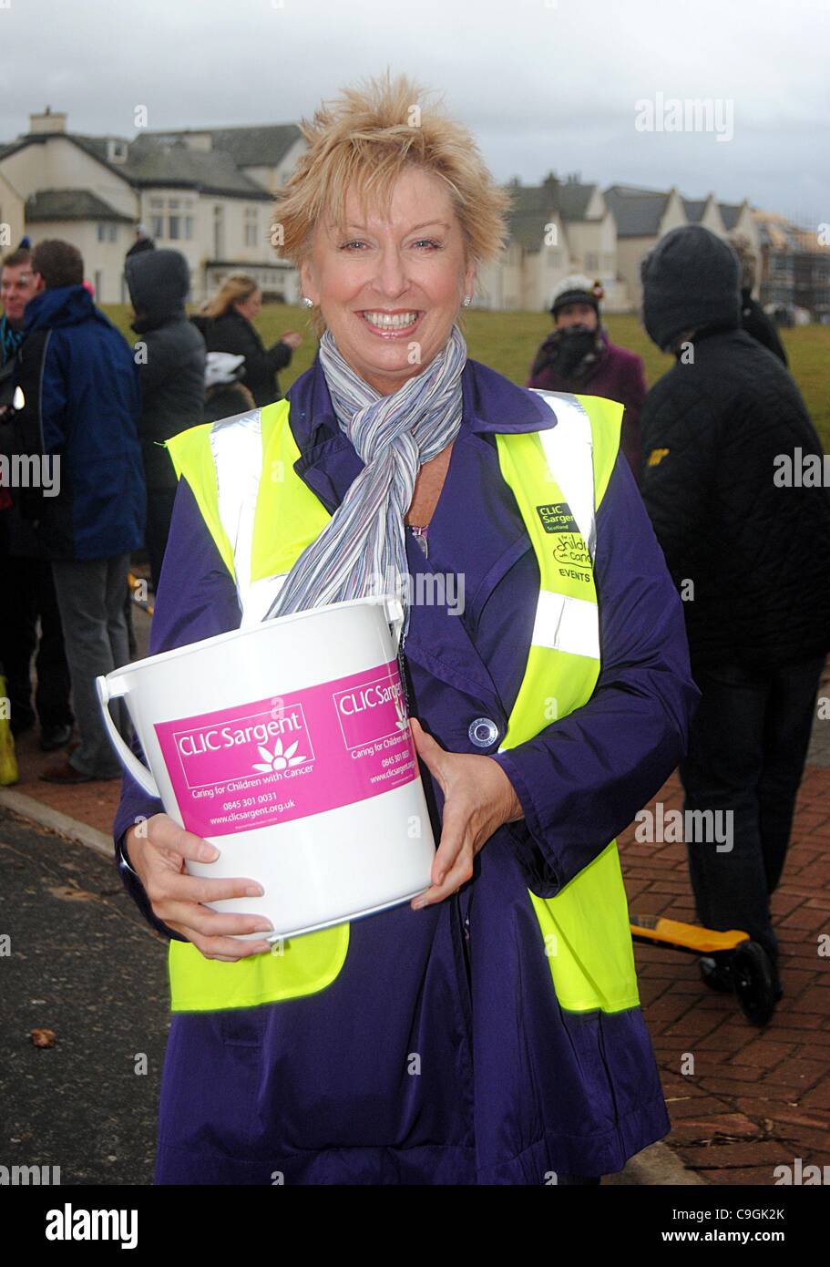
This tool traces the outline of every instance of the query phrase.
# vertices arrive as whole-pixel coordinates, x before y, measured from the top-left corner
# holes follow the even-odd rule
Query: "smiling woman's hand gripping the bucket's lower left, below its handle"
[[[155,813],[125,836],[129,864],[138,874],[153,915],[188,941],[205,959],[236,963],[271,950],[269,941],[239,941],[242,933],[270,933],[272,925],[261,915],[219,915],[204,906],[226,897],[261,897],[262,887],[252,879],[203,879],[188,875],[185,859],[214,862],[219,851],[201,836],[194,836],[166,813]],[[233,936],[236,934],[236,938]]]

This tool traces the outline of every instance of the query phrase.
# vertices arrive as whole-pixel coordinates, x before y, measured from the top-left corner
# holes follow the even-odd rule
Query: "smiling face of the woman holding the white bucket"
[[[300,266],[303,294],[319,304],[341,356],[389,395],[441,351],[475,269],[446,186],[422,167],[399,176],[388,219],[361,217],[350,191],[346,222],[343,233],[317,227]]]

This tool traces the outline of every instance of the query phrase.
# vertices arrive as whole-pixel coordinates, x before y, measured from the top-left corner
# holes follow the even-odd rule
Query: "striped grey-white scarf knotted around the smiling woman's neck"
[[[421,465],[461,426],[466,343],[457,326],[426,370],[392,395],[379,395],[347,365],[328,329],[319,360],[340,428],[365,466],[291,568],[266,620],[379,593],[393,593],[405,606],[404,514]],[[408,623],[407,608],[404,636]]]

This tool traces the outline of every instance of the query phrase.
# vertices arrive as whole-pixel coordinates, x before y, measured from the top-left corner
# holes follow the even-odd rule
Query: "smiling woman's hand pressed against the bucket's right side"
[[[473,859],[503,822],[517,822],[523,811],[513,784],[492,756],[447,753],[412,718],[418,756],[444,792],[441,843],[432,863],[432,887],[413,898],[418,911],[473,877]]]

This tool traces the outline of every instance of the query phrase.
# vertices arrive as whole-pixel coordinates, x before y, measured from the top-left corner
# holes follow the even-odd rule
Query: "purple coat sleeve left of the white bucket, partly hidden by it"
[[[233,579],[205,527],[186,480],[179,481],[165,563],[156,594],[150,636],[150,655],[171,651],[200,639],[227,634],[239,626],[239,606]],[[143,760],[136,741],[134,751]],[[144,887],[129,867],[124,835],[142,818],[163,813],[156,797],[148,796],[127,773],[113,825],[115,863],[124,887],[148,922],[167,938],[185,940],[152,914]]]

